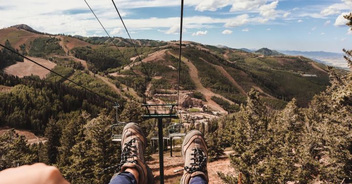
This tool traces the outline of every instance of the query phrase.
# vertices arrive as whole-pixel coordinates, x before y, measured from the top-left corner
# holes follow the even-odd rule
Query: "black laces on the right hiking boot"
[[[205,169],[207,163],[207,156],[204,155],[203,150],[198,149],[196,147],[193,148],[192,151],[193,153],[191,155],[194,157],[191,158],[191,160],[193,160],[193,163],[190,163],[190,166],[185,166],[184,170],[190,174],[196,171],[207,173],[207,170]]]

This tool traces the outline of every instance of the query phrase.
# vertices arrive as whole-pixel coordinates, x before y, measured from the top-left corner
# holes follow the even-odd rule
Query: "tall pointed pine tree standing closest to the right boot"
[[[247,105],[232,123],[232,148],[237,154],[230,156],[231,163],[243,174],[244,183],[261,183],[263,181],[264,158],[268,154],[267,120],[264,118],[265,107],[259,99],[259,93],[252,89],[248,92]]]

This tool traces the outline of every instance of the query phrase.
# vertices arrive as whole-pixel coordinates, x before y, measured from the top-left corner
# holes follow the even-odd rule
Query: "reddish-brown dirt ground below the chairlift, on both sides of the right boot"
[[[170,150],[170,147],[169,147]],[[226,152],[225,152],[226,153]],[[229,153],[226,153],[226,156]],[[159,155],[153,154],[152,161],[148,161],[148,166],[152,169],[155,184],[159,183]],[[164,179],[165,184],[179,184],[183,171],[174,173],[176,169],[182,169],[184,161],[181,156],[179,146],[176,145],[176,149],[173,149],[173,157],[170,157],[170,151],[164,152]],[[228,157],[220,158],[217,161],[208,162],[208,176],[209,184],[224,184],[217,172],[221,171],[225,174],[237,174],[235,169],[230,167],[230,160]]]

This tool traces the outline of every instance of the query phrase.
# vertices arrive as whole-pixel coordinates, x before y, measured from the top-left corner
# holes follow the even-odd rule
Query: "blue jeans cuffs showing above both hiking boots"
[[[134,176],[130,172],[122,172],[113,178],[109,184],[137,184]],[[189,184],[207,184],[206,181],[200,177],[193,177]]]

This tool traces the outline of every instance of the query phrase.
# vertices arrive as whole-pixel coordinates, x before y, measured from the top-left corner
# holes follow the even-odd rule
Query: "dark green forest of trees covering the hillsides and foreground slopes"
[[[345,18],[349,20],[347,25],[352,27],[352,14]],[[57,42],[55,38],[48,38],[33,43],[35,47],[60,53],[62,48]],[[37,49],[34,46],[30,48],[32,51]],[[90,67],[93,68],[90,69],[93,71],[105,71],[108,68],[104,65],[111,64],[118,68],[126,64],[116,50],[104,47],[76,47],[71,51],[77,58],[92,63]],[[219,48],[207,47],[221,52]],[[146,48],[145,54],[151,51],[149,49],[152,50]],[[132,57],[131,50],[125,51]],[[343,51],[352,69],[352,50]],[[170,52],[176,53],[176,49]],[[212,96],[211,99],[229,114],[206,125],[190,122],[182,130],[198,129],[204,133],[208,145],[208,164],[223,159],[225,152],[231,150],[229,167],[234,168],[236,173],[242,173],[244,184],[352,183],[352,71],[339,73],[328,67],[328,73],[317,73],[322,75],[320,79],[304,78],[298,71],[293,71],[295,64],[281,67],[271,57],[246,57],[229,63],[219,53],[200,59],[199,55],[205,52],[186,48],[183,54],[200,71],[199,78],[205,87],[240,104],[230,105],[222,98]],[[104,60],[99,60],[97,56],[103,55]],[[3,67],[21,61],[4,50],[0,51],[1,58],[6,61]],[[290,59],[299,59],[301,72],[313,71],[306,58]],[[57,78],[53,73],[49,73],[46,79],[40,79],[38,76],[19,78],[0,71],[0,85],[11,88],[8,92],[0,92],[0,126],[12,128],[0,135],[0,170],[44,162],[58,167],[72,184],[106,184],[114,173],[114,169],[106,168],[119,163],[121,154],[121,145],[110,140],[110,125],[117,121],[116,110],[112,108],[116,104],[110,101],[121,105],[117,109],[118,120],[139,124],[148,142],[157,131],[156,124],[154,120],[142,118],[145,111],[139,102],[126,100],[112,92],[106,83],[94,77],[94,73],[80,70],[80,65],[61,65],[65,63],[61,59],[52,60],[58,64],[55,71],[76,83],[89,86],[99,96]],[[225,76],[218,75],[213,65],[221,65],[237,78],[251,76],[253,80],[247,78],[241,83],[246,85],[247,95],[239,94]],[[152,77],[166,76],[171,71],[165,67],[157,72],[157,65],[146,67]],[[187,71],[185,65],[181,67]],[[237,75],[237,70],[245,71],[247,75]],[[119,89],[124,84],[141,96],[146,90],[147,76],[109,77]],[[193,89],[188,72],[184,72],[182,77],[187,81],[182,83],[183,87]],[[290,84],[284,84],[284,79]],[[151,79],[155,87],[172,88],[172,85],[164,84],[166,81],[167,78]],[[262,97],[260,92],[249,88],[249,84],[254,82],[278,98]],[[308,85],[315,93],[302,92],[299,85]],[[280,87],[286,91],[280,91]],[[194,97],[204,98],[197,92]],[[163,124],[166,127],[170,122],[171,119],[165,119]],[[47,140],[28,144],[15,129],[30,130]],[[145,160],[150,160],[154,151],[149,144]],[[224,171],[217,174],[226,184],[238,183],[238,175],[228,175]]]

